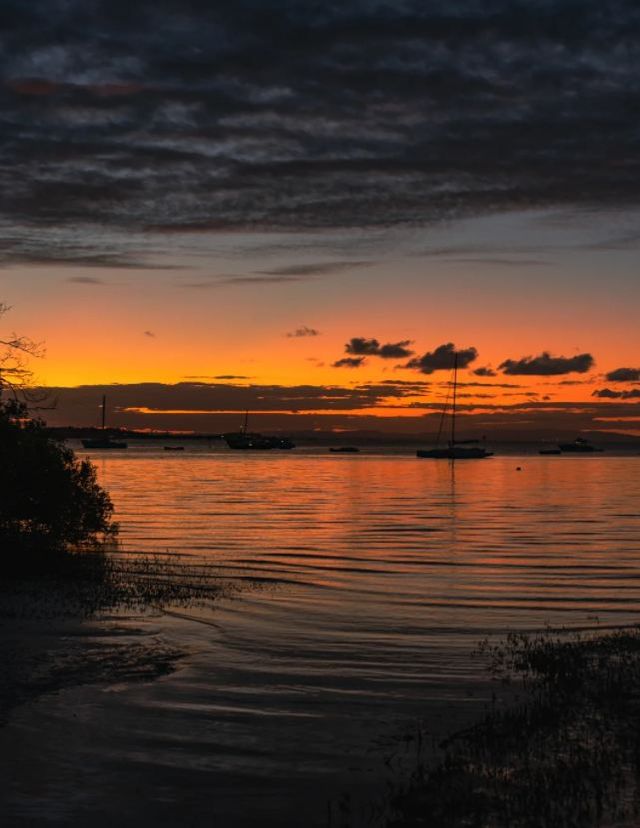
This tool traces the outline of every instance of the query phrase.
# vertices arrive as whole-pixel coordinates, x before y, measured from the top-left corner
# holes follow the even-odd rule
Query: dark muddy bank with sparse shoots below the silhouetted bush
[[[173,555],[21,550],[0,576],[0,725],[71,687],[151,681],[187,653],[140,615],[210,607],[235,592],[210,565]]]

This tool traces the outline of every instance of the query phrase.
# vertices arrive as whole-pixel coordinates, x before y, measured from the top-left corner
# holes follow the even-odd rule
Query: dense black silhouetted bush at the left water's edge
[[[88,460],[52,439],[24,405],[0,401],[0,561],[93,545],[117,531]]]

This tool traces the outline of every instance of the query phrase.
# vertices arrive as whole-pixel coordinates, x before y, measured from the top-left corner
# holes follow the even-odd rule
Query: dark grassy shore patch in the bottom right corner
[[[484,642],[520,694],[441,745],[393,801],[393,828],[640,824],[640,628]]]

